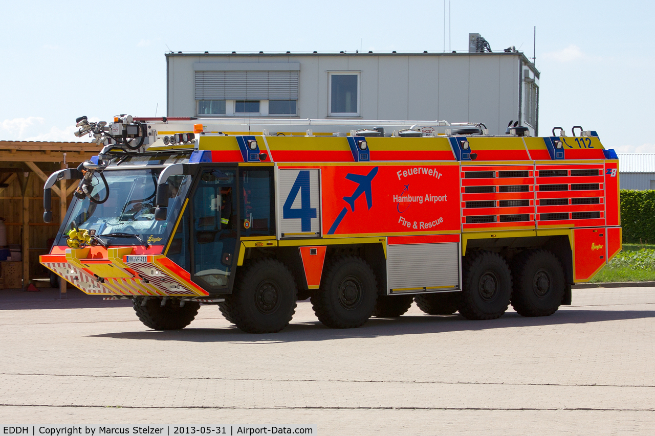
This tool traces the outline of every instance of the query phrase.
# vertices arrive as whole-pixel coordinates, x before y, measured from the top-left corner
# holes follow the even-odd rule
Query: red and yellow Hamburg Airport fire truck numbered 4
[[[152,329],[200,304],[277,332],[309,298],[326,326],[423,312],[548,316],[621,249],[618,160],[595,131],[517,123],[78,118],[102,151],[41,263],[132,299]],[[576,135],[576,130],[578,134]]]

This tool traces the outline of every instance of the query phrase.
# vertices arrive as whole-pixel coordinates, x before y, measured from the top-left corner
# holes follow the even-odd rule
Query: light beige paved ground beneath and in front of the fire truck
[[[124,301],[70,294],[0,291],[1,423],[655,434],[655,288],[574,289],[546,318],[412,306],[348,330],[300,302],[272,335],[238,331],[216,306],[181,331],[151,331]]]

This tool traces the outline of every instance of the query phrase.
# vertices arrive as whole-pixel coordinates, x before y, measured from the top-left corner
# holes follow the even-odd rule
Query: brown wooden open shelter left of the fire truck
[[[76,168],[102,146],[84,142],[0,141],[0,217],[5,218],[7,243],[22,248],[22,286],[48,277],[39,255],[50,249],[77,183],[60,181],[52,188],[52,223],[43,222],[43,185],[53,172]],[[62,194],[64,192],[64,194]],[[61,200],[64,198],[64,201]],[[60,207],[56,207],[59,202]],[[62,292],[65,282],[62,280]]]

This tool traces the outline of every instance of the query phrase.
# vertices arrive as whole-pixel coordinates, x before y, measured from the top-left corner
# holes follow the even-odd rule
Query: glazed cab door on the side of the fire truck
[[[238,258],[236,166],[203,166],[191,194],[191,279],[208,291],[231,287]]]

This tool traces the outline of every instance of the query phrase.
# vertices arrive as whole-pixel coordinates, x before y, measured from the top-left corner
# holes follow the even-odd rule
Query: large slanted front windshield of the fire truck
[[[79,200],[73,197],[71,213],[65,227],[60,229],[60,244],[65,244],[71,222],[79,228],[94,230],[96,236],[107,235],[110,244],[136,244],[132,240],[117,242],[126,236],[111,236],[112,234],[134,234],[148,244],[163,245],[179,216],[183,199],[185,198],[191,176],[175,175],[168,179],[168,213],[166,221],[155,221],[155,193],[157,179],[162,168],[138,170],[109,170],[104,175],[109,186],[109,196],[102,204],[90,202],[88,198]],[[107,196],[102,180],[98,177],[93,181],[93,197],[102,200]]]

